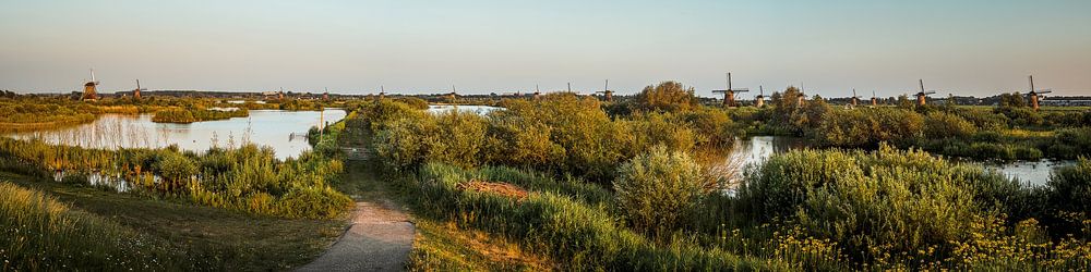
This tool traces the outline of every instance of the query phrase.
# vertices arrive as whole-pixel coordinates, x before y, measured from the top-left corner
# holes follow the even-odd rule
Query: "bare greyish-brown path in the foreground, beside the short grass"
[[[299,271],[401,271],[412,238],[412,223],[393,203],[360,201],[348,231]]]

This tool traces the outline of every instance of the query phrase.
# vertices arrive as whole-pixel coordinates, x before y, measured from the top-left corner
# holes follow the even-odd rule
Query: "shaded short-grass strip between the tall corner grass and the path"
[[[166,265],[168,270],[288,270],[316,258],[344,230],[344,222],[338,220],[253,217],[10,173],[0,173],[0,180],[45,191],[73,210],[161,239],[169,248],[193,258],[175,263],[179,267]]]

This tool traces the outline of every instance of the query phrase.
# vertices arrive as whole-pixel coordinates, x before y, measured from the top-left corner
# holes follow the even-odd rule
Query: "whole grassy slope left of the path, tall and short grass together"
[[[21,233],[0,235],[3,239],[23,240],[11,244],[23,249],[4,251],[9,254],[3,258],[9,268],[286,270],[309,262],[343,231],[338,221],[252,217],[9,173],[0,173],[0,180],[51,199],[48,207],[55,212],[48,222],[41,221],[45,218],[36,219],[40,231],[24,228]],[[0,201],[4,207],[11,207],[10,203],[10,198]],[[20,207],[15,215],[2,218],[5,223],[12,219],[26,220],[41,207]]]

